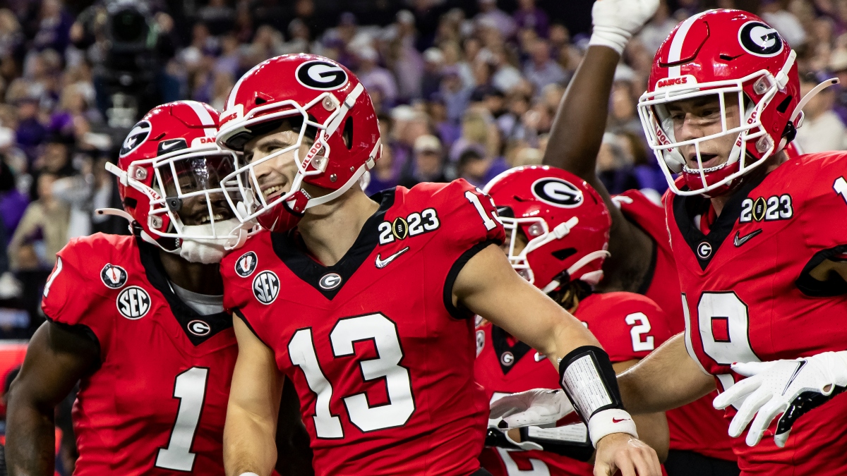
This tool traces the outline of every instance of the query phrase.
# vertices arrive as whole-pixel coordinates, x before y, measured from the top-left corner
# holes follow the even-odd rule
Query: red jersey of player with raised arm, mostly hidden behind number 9
[[[671,318],[671,332],[674,335],[684,331],[683,304],[678,299],[679,274],[667,232],[664,208],[637,190],[624,191],[613,200],[620,205],[623,215],[656,243],[656,261],[646,280],[646,289],[639,290],[639,293],[650,297],[665,310]],[[717,391],[711,392],[684,407],[665,412],[672,450],[695,451],[707,457],[729,461],[737,459],[732,439],[729,438],[729,422],[711,406],[716,396]]]

